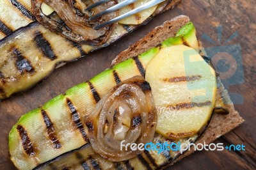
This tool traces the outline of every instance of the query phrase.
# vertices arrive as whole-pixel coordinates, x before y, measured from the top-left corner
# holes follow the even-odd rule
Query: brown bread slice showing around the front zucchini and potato
[[[159,45],[166,38],[170,38],[175,36],[175,33],[180,29],[180,27],[184,26],[189,22],[189,17],[180,15],[175,17],[172,20],[164,22],[163,26],[156,27],[150,33],[148,33],[144,38],[139,40],[138,42],[131,45],[127,50],[121,52],[116,58],[112,61],[112,65],[116,63],[120,63],[126,59],[132,58],[134,56],[138,56],[142,52]],[[201,55],[205,55],[204,49],[202,47],[202,43],[200,43],[200,52]],[[221,135],[226,134],[233,128],[237,127],[239,124],[243,123],[243,118],[239,116],[239,113],[234,108],[230,97],[228,96],[227,90],[224,89],[223,84],[220,82],[220,78],[217,80],[220,84],[218,88],[218,93],[223,97],[225,102],[228,104],[229,114],[213,114],[211,122],[209,126],[205,130],[204,134],[196,141],[196,143],[212,143],[215,139],[220,137]],[[170,166],[175,162],[179,161],[183,157],[188,156],[193,153],[193,149],[190,151],[186,151],[180,157],[178,157],[174,162],[170,162],[170,164],[166,166]]]

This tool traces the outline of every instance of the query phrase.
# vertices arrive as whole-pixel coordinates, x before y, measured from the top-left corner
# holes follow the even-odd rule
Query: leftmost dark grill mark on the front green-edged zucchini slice
[[[22,125],[17,125],[17,130],[20,135],[23,150],[29,155],[29,157],[34,157],[36,153],[33,149],[33,144],[29,139],[28,132],[25,130],[24,127],[22,127]]]

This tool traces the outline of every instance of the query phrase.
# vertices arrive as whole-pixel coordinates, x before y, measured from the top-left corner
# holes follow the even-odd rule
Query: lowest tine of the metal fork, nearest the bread
[[[93,28],[94,29],[99,29],[99,28],[107,26],[109,24],[113,24],[113,23],[117,22],[118,20],[124,19],[126,17],[131,16],[131,15],[134,15],[135,13],[138,13],[138,12],[141,12],[143,10],[146,10],[147,8],[155,6],[156,4],[163,3],[163,1],[165,1],[165,0],[152,0],[152,1],[149,1],[148,3],[145,3],[145,4],[141,5],[138,8],[135,8],[134,10],[131,10],[130,12],[124,13],[123,15],[120,15],[120,16],[116,17],[115,19],[111,19],[111,20],[108,20],[106,22],[103,22],[102,24],[99,24],[99,25],[97,25],[97,26],[95,26]]]

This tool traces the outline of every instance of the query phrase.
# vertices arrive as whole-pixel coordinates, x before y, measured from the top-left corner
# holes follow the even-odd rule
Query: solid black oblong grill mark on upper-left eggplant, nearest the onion
[[[45,57],[54,60],[57,56],[54,54],[52,50],[51,44],[44,38],[44,35],[39,31],[36,31],[35,38],[36,46],[42,50]]]

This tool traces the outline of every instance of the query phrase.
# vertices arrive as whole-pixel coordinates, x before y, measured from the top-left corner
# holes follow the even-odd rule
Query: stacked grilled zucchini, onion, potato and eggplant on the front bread
[[[125,155],[125,152],[111,157],[114,153],[97,148],[99,141],[95,139],[102,136],[106,140],[109,135],[115,138],[113,144],[116,144],[132,133],[127,140],[141,139],[143,135],[138,133],[134,137],[137,134],[132,130],[141,129],[142,134],[147,132],[147,125],[143,122],[151,122],[154,132],[154,106],[141,103],[150,97],[147,91],[151,91],[158,117],[157,133],[152,142],[195,142],[209,123],[216,97],[215,72],[197,50],[195,27],[189,22],[175,37],[161,45],[114,65],[90,81],[78,84],[28,112],[13,126],[9,135],[13,163],[19,169],[154,169],[175,160],[180,151],[162,151],[159,154],[150,150],[139,155],[136,153],[134,158],[127,157],[129,160],[124,157],[122,161],[116,160],[118,154]],[[145,80],[134,78],[138,75]],[[145,93],[146,97],[136,96],[136,93]],[[141,105],[145,108],[147,105],[148,110]],[[143,116],[147,120],[147,115],[150,121],[142,120]],[[144,128],[140,127],[142,125]],[[110,147],[109,151],[119,147],[111,146],[108,140],[105,144]]]

